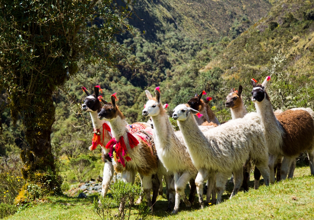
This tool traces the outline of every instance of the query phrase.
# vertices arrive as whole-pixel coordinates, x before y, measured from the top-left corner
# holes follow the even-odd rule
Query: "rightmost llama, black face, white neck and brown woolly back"
[[[301,152],[307,151],[311,175],[314,175],[314,112],[310,108],[294,108],[284,111],[277,118],[267,94],[267,76],[262,84],[252,79],[252,101],[261,117],[268,145],[271,182],[275,181],[273,166],[278,157],[284,156],[280,176],[287,177],[291,164]],[[292,174],[293,175],[293,174]]]

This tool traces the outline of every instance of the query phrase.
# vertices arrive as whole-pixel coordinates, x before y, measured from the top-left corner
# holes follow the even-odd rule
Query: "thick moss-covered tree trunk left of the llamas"
[[[62,192],[62,177],[51,153],[50,135],[55,121],[52,92],[47,88],[46,92],[34,95],[29,103],[28,108],[19,111],[24,119],[27,146],[21,152],[26,184],[16,198],[18,204]]]

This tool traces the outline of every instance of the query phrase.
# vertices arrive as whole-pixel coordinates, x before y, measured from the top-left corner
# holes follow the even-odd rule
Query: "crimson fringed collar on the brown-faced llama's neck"
[[[127,138],[129,140],[129,144],[131,149],[135,146],[138,146],[138,140],[129,132],[127,132]],[[116,145],[115,149],[113,146]],[[123,157],[130,161],[132,158],[129,157],[129,153],[127,152],[127,146],[125,145],[123,136],[120,137],[119,141],[117,142],[115,138],[112,138],[106,145],[107,149],[109,150],[109,156],[113,158],[117,163],[121,163],[123,167],[125,167],[125,162]],[[121,155],[122,153],[122,155]]]

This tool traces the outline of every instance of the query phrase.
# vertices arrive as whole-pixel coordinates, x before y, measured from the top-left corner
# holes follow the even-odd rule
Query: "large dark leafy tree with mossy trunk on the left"
[[[115,36],[130,30],[129,0],[0,0],[0,88],[14,122],[23,121],[23,187],[18,202],[61,192],[51,153],[53,92],[78,70],[112,73],[125,55]],[[132,64],[132,63],[131,63]],[[132,65],[131,65],[132,66]],[[0,109],[0,112],[2,110]],[[38,194],[38,192],[37,192]],[[36,195],[37,195],[36,194]]]

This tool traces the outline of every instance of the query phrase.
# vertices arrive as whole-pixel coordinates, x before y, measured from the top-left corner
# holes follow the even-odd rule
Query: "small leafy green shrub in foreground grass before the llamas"
[[[141,193],[140,187],[119,180],[112,185],[111,193],[113,198],[100,196],[99,201],[94,198],[94,211],[102,220],[130,219],[135,196]],[[132,212],[135,219],[146,219],[149,214],[149,208],[143,203],[137,207],[137,211]]]

